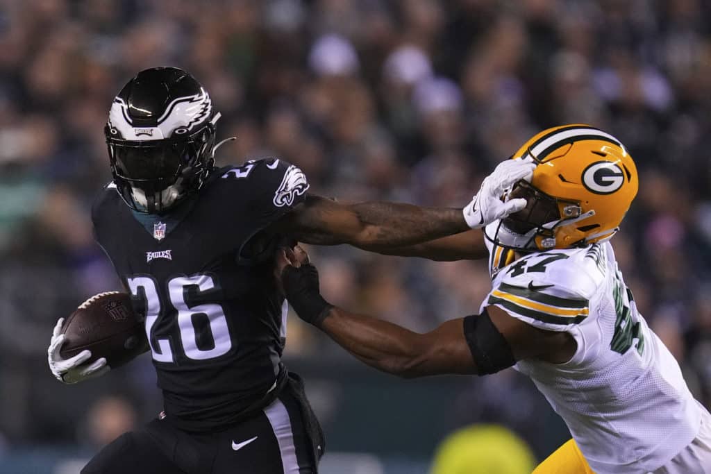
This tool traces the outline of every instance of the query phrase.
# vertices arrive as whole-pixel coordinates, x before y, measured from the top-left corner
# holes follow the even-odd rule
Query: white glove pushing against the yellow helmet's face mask
[[[486,227],[495,220],[525,208],[526,200],[523,198],[506,202],[502,198],[519,180],[530,181],[535,166],[530,158],[526,160],[515,158],[498,163],[493,173],[484,178],[479,193],[476,193],[471,203],[464,208],[464,220],[469,227],[472,229]]]

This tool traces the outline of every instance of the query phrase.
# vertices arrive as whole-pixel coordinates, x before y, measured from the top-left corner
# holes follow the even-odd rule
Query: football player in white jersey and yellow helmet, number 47
[[[279,257],[289,302],[385,372],[486,375],[513,366],[528,375],[574,440],[535,473],[711,473],[711,415],[638,313],[608,242],[637,193],[631,156],[604,131],[567,125],[533,136],[513,158],[512,166],[535,165],[501,196],[526,199],[523,210],[490,219],[475,199],[465,215],[483,232],[392,252],[488,255],[492,289],[478,315],[417,334],[350,313],[321,297],[299,247]]]

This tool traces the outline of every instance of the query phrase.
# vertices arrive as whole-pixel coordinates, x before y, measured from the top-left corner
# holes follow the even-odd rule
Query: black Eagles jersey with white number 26
[[[287,303],[272,246],[255,236],[308,187],[299,168],[270,159],[215,168],[163,215],[132,211],[114,185],[97,199],[95,237],[145,314],[164,409],[178,426],[231,423],[283,378]]]

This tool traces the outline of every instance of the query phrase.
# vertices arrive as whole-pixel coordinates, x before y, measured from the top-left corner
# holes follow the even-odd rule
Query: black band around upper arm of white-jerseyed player
[[[478,375],[494,374],[516,363],[508,341],[493,325],[486,309],[464,318],[464,337]]]

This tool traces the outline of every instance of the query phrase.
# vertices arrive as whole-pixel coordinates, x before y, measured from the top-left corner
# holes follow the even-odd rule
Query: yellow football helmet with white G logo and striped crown
[[[639,185],[624,145],[589,125],[556,126],[528,140],[512,158],[533,159],[530,183],[506,199],[526,198],[523,210],[501,220],[487,237],[513,249],[583,247],[619,230]]]

